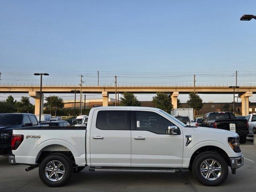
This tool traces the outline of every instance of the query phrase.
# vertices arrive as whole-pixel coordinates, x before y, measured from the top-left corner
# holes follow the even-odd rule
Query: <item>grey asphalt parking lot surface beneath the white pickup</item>
[[[89,172],[84,169],[74,173],[63,187],[50,188],[38,177],[38,168],[25,172],[26,165],[12,165],[5,156],[0,156],[0,191],[2,192],[255,192],[256,191],[256,146],[247,138],[241,144],[244,166],[229,175],[221,186],[207,187],[200,184],[189,170],[182,173],[142,172]]]

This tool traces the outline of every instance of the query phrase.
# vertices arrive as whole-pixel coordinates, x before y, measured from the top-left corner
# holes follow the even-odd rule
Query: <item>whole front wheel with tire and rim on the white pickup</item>
[[[203,185],[218,186],[228,176],[228,164],[222,156],[215,152],[203,152],[194,159],[192,172]]]

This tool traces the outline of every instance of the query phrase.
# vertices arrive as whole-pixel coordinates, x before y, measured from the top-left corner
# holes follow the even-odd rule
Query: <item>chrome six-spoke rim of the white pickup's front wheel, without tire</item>
[[[221,176],[222,168],[218,161],[206,159],[200,165],[200,172],[207,180],[216,180]]]

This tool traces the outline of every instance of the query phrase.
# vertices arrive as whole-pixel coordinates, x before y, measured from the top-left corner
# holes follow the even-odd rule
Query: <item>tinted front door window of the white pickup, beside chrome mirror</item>
[[[150,131],[157,134],[167,134],[168,126],[174,125],[159,114],[148,111],[137,111],[136,121],[136,130]]]

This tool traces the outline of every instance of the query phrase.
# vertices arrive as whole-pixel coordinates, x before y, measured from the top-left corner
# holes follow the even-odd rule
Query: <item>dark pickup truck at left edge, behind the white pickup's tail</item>
[[[0,155],[11,154],[12,130],[39,126],[34,114],[30,113],[4,113],[0,114]]]

